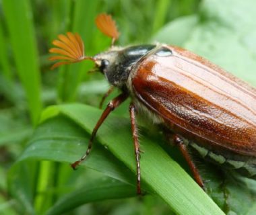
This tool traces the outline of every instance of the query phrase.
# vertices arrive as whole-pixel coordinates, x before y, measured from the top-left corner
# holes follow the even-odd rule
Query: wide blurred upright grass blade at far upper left
[[[36,124],[41,112],[40,71],[30,1],[3,1],[17,73],[28,99],[30,117]]]

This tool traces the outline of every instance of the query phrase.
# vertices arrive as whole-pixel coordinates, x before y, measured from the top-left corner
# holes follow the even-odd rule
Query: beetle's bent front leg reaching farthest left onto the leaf
[[[81,159],[79,159],[78,161],[75,161],[74,163],[71,164],[71,167],[73,169],[75,169],[77,167],[77,165],[82,163],[82,161],[84,161],[86,159],[86,157],[90,154],[90,151],[92,150],[92,142],[93,142],[93,140],[96,136],[98,128],[100,128],[101,124],[107,118],[108,114],[110,114],[110,112],[115,110],[116,107],[118,107],[121,103],[123,103],[123,101],[125,101],[125,99],[127,99],[127,97],[128,97],[128,95],[126,93],[122,93],[122,94],[118,95],[117,97],[115,97],[115,99],[113,99],[112,101],[110,101],[108,103],[108,105],[106,106],[106,109],[104,110],[104,112],[100,116],[100,119],[98,120],[96,126],[94,127],[94,130],[92,131],[92,135],[91,135],[91,138],[89,140],[89,144],[88,144],[88,148],[86,150],[86,154],[84,154],[81,157]]]

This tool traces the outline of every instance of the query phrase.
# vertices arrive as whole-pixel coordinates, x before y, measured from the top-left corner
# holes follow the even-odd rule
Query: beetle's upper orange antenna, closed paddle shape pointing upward
[[[106,36],[112,38],[111,47],[114,46],[115,41],[119,38],[119,31],[117,30],[117,24],[111,15],[106,13],[99,14],[96,19],[96,26]]]

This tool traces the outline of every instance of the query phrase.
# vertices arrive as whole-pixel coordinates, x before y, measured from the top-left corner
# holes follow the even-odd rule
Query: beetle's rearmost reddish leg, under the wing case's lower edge
[[[195,181],[197,181],[198,185],[204,189],[203,180],[201,179],[201,176],[199,174],[199,171],[197,170],[197,167],[195,167],[195,164],[193,163],[191,156],[189,155],[189,151],[187,150],[187,146],[183,143],[183,140],[177,135],[174,135],[174,144],[177,144],[179,147],[179,150],[181,151],[181,154],[187,161],[189,168],[191,169],[193,176],[195,178]]]

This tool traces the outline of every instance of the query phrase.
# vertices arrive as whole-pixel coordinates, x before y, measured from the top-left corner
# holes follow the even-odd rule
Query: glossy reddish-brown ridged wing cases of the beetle
[[[187,50],[167,48],[171,56],[147,56],[131,72],[135,97],[207,150],[256,157],[256,90],[195,54],[187,58]]]

